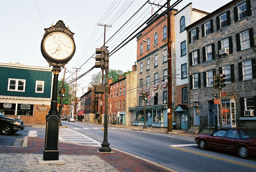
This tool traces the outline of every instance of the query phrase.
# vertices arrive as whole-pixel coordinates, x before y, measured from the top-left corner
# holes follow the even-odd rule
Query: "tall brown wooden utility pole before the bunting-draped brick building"
[[[168,0],[167,0],[168,1]],[[170,2],[167,3],[167,9],[170,7]],[[172,132],[172,42],[171,42],[171,11],[168,10],[167,14],[167,41],[168,41],[168,96],[167,96],[167,102],[168,102],[168,120],[167,120],[167,131]]]

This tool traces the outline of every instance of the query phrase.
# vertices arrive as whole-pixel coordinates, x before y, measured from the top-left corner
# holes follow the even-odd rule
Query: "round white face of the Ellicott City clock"
[[[43,43],[45,53],[55,60],[67,59],[74,51],[73,40],[62,32],[47,35]]]

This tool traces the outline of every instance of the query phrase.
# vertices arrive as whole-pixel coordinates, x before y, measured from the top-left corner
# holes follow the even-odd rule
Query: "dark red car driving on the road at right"
[[[237,152],[239,157],[256,155],[256,130],[221,128],[209,135],[198,135],[195,141],[200,149],[212,147]]]

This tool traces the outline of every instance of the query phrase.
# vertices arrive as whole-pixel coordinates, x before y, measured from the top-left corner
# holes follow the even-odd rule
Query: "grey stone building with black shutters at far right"
[[[186,27],[189,113],[200,130],[220,126],[213,76],[225,74],[223,127],[256,128],[256,1],[233,0]],[[219,98],[219,94],[217,95]]]

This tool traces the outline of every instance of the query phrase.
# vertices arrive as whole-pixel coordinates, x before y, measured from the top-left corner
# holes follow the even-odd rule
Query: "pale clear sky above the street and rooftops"
[[[146,4],[132,20],[120,31],[122,25],[139,10],[147,0],[0,0],[0,62],[17,62],[23,65],[49,67],[41,54],[40,46],[44,28],[49,28],[58,20],[64,21],[74,34],[76,53],[65,66],[65,79],[69,82],[87,72],[95,65],[93,54],[95,48],[100,48],[104,42],[104,27],[106,24],[106,46],[111,51],[128,37],[158,7]],[[171,0],[172,5],[176,0]],[[188,3],[192,8],[212,12],[231,0],[183,0],[176,9],[180,10]],[[150,0],[151,3],[163,5],[166,0]],[[115,34],[117,32],[117,34]],[[138,30],[140,31],[140,29]],[[135,32],[135,33],[138,33]],[[112,37],[113,36],[113,37]],[[132,39],[127,45],[110,56],[109,68],[128,71],[136,62],[137,42]],[[95,56],[95,55],[94,55]],[[101,71],[95,68],[77,81],[77,96],[87,92],[91,76]],[[61,70],[59,80],[63,78]],[[75,84],[75,82],[73,83]]]

